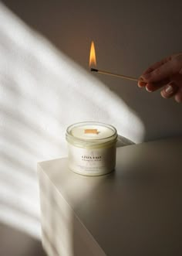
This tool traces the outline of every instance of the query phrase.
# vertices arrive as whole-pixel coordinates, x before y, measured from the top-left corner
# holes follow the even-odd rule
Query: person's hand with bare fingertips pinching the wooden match
[[[163,87],[162,97],[174,97],[175,101],[182,102],[182,53],[153,64],[141,75],[138,86],[146,87],[149,92]]]

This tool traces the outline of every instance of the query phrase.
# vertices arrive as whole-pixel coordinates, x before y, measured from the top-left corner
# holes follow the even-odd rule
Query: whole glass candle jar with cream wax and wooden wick
[[[86,176],[112,172],[116,166],[117,131],[112,125],[82,122],[66,131],[69,169]]]

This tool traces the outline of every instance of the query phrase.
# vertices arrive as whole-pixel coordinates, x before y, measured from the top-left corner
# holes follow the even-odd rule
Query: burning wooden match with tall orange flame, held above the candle
[[[111,73],[111,72],[108,72],[108,71],[105,71],[105,70],[97,70],[96,68],[93,68],[91,66],[96,67],[96,51],[95,51],[95,47],[94,47],[93,42],[91,43],[90,54],[89,54],[90,71],[97,72],[97,73],[103,73],[105,75],[109,75],[109,76],[113,76],[113,77],[120,77],[120,78],[127,79],[127,80],[138,81],[138,79],[136,77],[128,77],[128,76],[124,76],[122,74]]]

